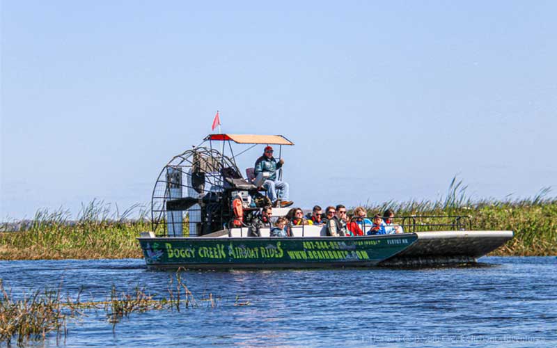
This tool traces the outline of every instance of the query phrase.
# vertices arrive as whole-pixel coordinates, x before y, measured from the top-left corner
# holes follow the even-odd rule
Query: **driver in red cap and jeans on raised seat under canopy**
[[[267,146],[263,155],[259,157],[256,161],[256,165],[253,173],[257,176],[259,173],[269,173],[269,177],[263,182],[263,187],[267,190],[267,196],[271,200],[273,207],[278,206],[278,201],[280,200],[280,207],[290,207],[294,202],[288,200],[288,194],[290,187],[288,182],[283,182],[277,179],[276,170],[282,168],[284,164],[284,159],[279,159],[278,163],[273,157],[273,148]],[[279,189],[281,192],[281,197],[277,196],[276,190]]]

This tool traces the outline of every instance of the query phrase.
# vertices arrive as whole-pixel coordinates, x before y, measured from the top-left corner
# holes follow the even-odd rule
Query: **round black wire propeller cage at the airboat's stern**
[[[151,199],[152,228],[169,237],[196,237],[226,228],[230,200],[224,170],[239,173],[218,150],[187,150],[164,166]]]

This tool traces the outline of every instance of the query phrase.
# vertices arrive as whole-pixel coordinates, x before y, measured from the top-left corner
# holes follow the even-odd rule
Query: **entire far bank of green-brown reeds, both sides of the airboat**
[[[557,255],[557,198],[546,198],[548,193],[549,189],[542,189],[533,198],[472,200],[455,177],[446,197],[438,200],[390,201],[367,209],[368,216],[382,214],[386,208],[397,216],[470,216],[473,230],[515,231],[515,238],[492,255]],[[139,218],[129,219],[138,208],[112,213],[110,205],[93,201],[82,207],[74,221],[63,209],[39,210],[21,232],[0,232],[0,260],[141,258],[136,237],[150,230],[151,224],[141,210]],[[451,219],[441,221],[450,223]],[[439,221],[418,219],[420,222]],[[7,230],[6,226],[0,230]]]

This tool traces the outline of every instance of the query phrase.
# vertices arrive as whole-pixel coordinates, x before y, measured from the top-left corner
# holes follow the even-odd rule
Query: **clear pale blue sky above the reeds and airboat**
[[[148,203],[210,133],[297,205],[557,187],[557,1],[1,1],[0,220]],[[262,148],[244,157],[251,165]],[[551,192],[554,195],[554,191]]]

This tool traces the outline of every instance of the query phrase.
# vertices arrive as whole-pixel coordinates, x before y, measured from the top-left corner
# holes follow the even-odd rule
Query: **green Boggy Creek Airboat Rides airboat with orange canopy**
[[[152,231],[139,244],[149,268],[270,269],[467,264],[512,239],[512,231],[471,229],[469,216],[399,216],[404,233],[331,237],[325,226],[291,226],[270,237],[251,221],[268,204],[262,177],[246,176],[233,146],[294,145],[282,135],[210,134],[162,168],[152,191]],[[229,155],[226,155],[228,150]],[[255,159],[253,159],[255,161]],[[282,173],[281,173],[282,174]],[[274,218],[289,208],[273,208]]]

